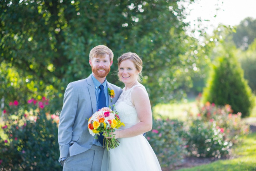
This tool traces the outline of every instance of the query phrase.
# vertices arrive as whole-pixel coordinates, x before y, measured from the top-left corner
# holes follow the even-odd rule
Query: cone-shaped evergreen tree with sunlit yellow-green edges
[[[217,64],[213,65],[208,85],[203,92],[203,101],[216,105],[229,104],[235,113],[241,112],[242,117],[246,117],[253,107],[252,92],[232,50],[227,51],[225,55],[217,58]]]

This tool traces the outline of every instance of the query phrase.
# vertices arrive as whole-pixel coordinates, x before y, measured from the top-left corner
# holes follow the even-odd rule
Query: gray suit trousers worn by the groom
[[[104,148],[92,145],[92,148],[64,161],[63,171],[100,171]]]

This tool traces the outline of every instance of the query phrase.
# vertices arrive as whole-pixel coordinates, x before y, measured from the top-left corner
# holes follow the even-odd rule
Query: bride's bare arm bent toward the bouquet
[[[115,131],[115,138],[125,138],[141,135],[152,129],[152,111],[147,92],[142,87],[135,87],[131,92],[133,102],[140,122],[131,128]]]

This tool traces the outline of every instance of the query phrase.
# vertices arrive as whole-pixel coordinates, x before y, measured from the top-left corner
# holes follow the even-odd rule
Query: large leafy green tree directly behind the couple
[[[185,34],[189,23],[183,22],[186,14],[178,0],[0,2],[1,61],[19,74],[22,88],[13,86],[11,91],[24,94],[24,101],[42,92],[52,104],[55,98],[60,109],[67,83],[91,73],[88,54],[99,44],[114,52],[112,71],[125,52],[142,58],[144,84],[153,105],[181,96],[184,79],[179,76],[184,74],[176,70],[193,72],[190,68],[197,62],[196,55],[186,55],[190,45],[183,41],[197,44],[197,40]],[[123,86],[112,74],[108,81]],[[9,99],[9,93],[0,96],[16,100]]]

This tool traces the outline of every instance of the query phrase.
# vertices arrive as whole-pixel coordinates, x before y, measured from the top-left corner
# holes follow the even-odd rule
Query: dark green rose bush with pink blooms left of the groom
[[[1,170],[60,170],[57,115],[45,112],[47,100],[30,100],[25,109],[17,101],[3,111],[0,132]],[[43,109],[44,108],[44,109]]]

